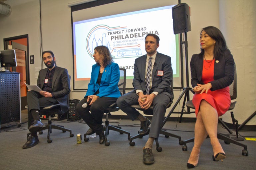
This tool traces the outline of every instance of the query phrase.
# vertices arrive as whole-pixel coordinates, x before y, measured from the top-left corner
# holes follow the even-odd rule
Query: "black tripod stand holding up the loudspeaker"
[[[181,44],[185,44],[185,62],[186,62],[186,87],[183,88],[183,92],[181,93],[180,97],[178,98],[177,102],[174,104],[173,108],[171,109],[171,111],[169,112],[168,116],[165,118],[163,125],[166,123],[167,119],[170,117],[170,115],[172,113],[180,113],[180,120],[179,123],[181,123],[181,119],[182,119],[182,115],[184,113],[184,107],[186,104],[186,99],[187,101],[189,101],[189,91],[191,91],[193,94],[194,92],[192,91],[192,88],[189,87],[189,79],[188,79],[188,42],[187,42],[187,32],[184,33],[185,34],[185,41],[181,42]],[[182,62],[182,61],[181,61]],[[182,99],[182,97],[185,95],[184,100],[183,100],[183,104],[182,104],[182,111],[181,112],[173,112],[174,109],[176,108],[176,106],[179,104],[180,100]],[[195,113],[195,112],[190,112],[190,108],[187,108],[186,114],[190,114],[190,113]]]

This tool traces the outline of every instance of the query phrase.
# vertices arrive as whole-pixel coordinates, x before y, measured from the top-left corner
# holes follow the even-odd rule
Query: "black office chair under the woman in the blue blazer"
[[[118,88],[120,90],[121,95],[125,94],[125,86],[126,86],[126,69],[124,68],[119,68],[120,71],[120,79],[118,82]],[[105,123],[105,146],[109,146],[110,145],[110,141],[108,140],[108,134],[109,134],[109,130],[114,130],[119,132],[120,134],[127,134],[128,135],[128,140],[130,140],[130,132],[123,130],[122,127],[120,126],[113,126],[113,125],[109,125],[109,121],[108,121],[108,116],[111,115],[111,112],[116,112],[119,111],[119,108],[117,107],[116,103],[113,103],[112,105],[110,105],[105,111],[104,113],[106,114],[106,121]],[[84,141],[89,141],[89,138],[86,137],[86,133],[84,134]]]

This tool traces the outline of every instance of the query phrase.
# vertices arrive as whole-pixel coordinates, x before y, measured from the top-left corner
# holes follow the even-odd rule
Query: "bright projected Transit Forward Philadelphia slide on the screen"
[[[132,78],[134,60],[145,52],[145,37],[156,34],[160,37],[158,52],[172,57],[176,62],[176,44],[173,34],[171,8],[161,10],[143,10],[97,19],[75,22],[74,58],[76,80],[89,80],[91,67],[95,64],[94,48],[105,45],[120,68],[126,69],[126,75]],[[175,64],[173,65],[175,66]],[[173,68],[173,71],[176,68]]]

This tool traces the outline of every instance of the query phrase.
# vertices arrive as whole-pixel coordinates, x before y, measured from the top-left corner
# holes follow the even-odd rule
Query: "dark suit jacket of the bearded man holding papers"
[[[52,98],[55,98],[58,101],[62,113],[65,113],[69,108],[67,95],[70,93],[70,79],[67,69],[58,66],[55,67],[56,68],[52,79]],[[41,89],[44,85],[47,70],[48,68],[44,68],[39,71],[37,86]]]

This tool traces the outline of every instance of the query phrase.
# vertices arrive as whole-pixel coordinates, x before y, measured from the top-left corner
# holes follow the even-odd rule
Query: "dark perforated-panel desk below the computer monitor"
[[[0,71],[0,125],[20,120],[20,73]]]

